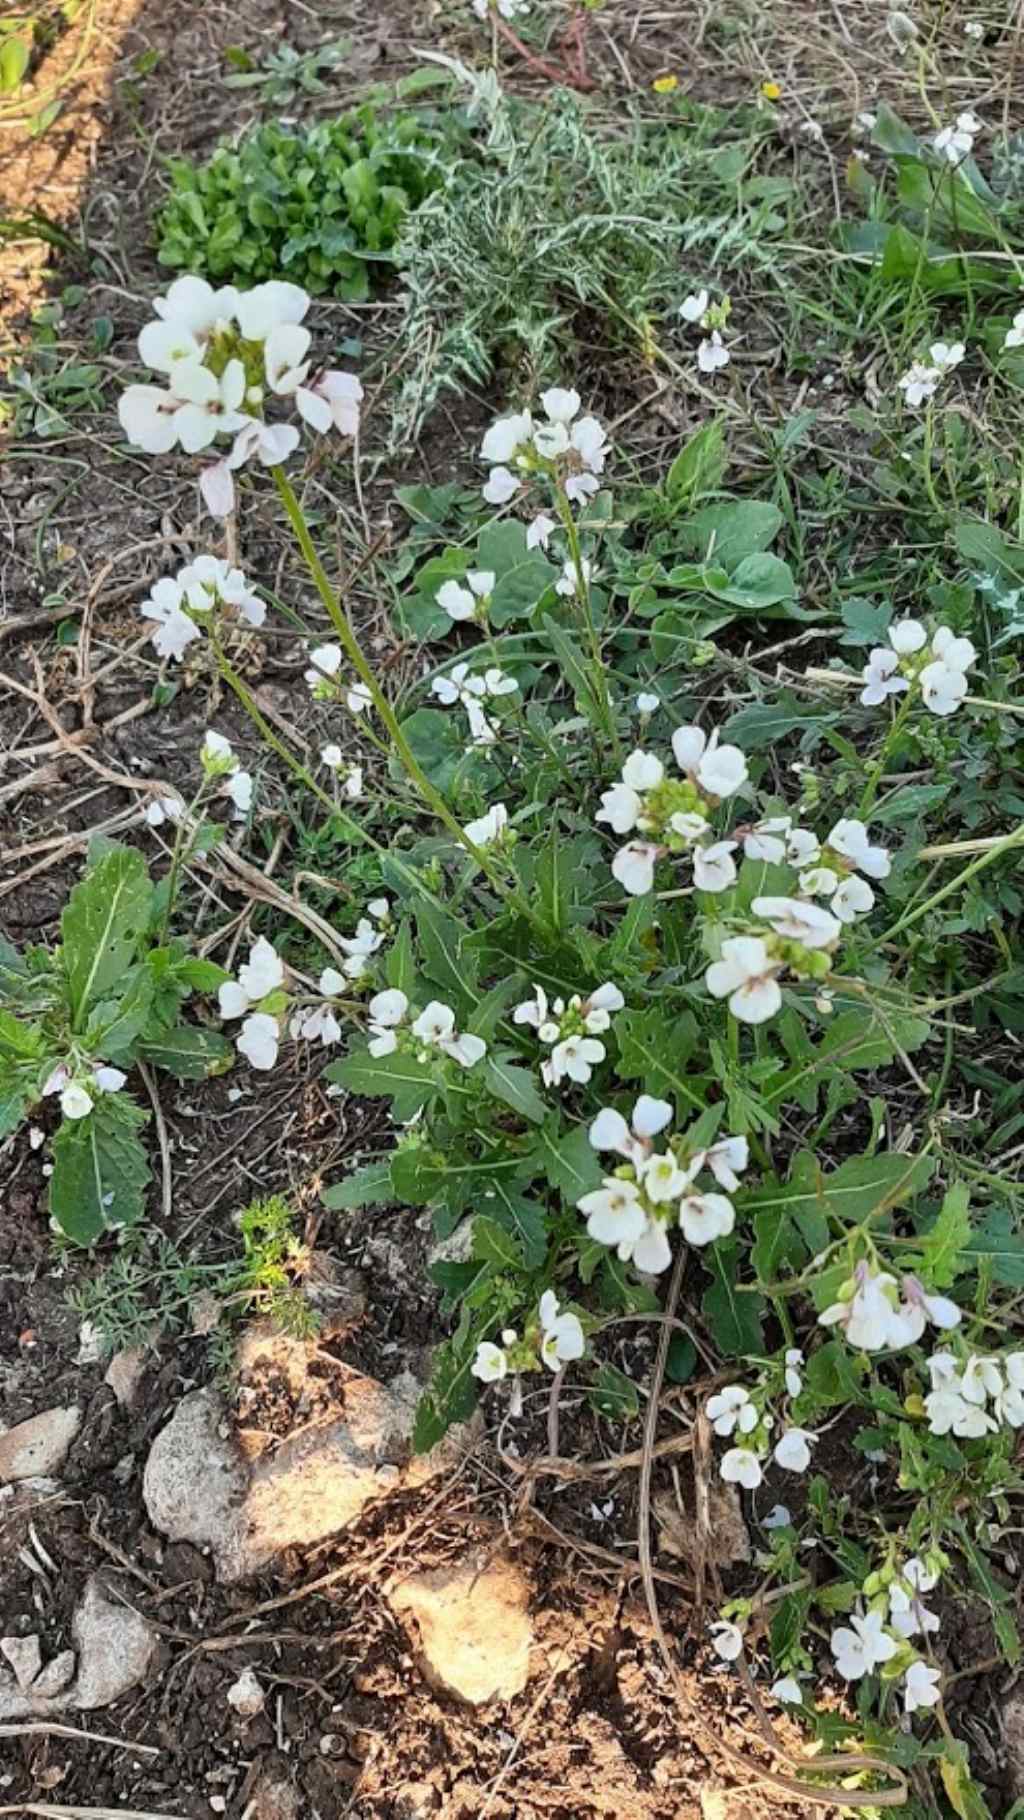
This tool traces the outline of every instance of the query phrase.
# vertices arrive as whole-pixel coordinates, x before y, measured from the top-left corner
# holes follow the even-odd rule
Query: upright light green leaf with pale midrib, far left
[[[111,846],[71,892],[60,934],[75,1028],[116,986],[149,925],[153,886],[142,854]]]

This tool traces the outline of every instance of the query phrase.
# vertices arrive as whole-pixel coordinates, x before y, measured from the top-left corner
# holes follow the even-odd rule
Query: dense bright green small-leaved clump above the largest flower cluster
[[[313,295],[369,295],[369,266],[442,182],[442,135],[373,107],[302,131],[275,122],[206,164],[171,160],[158,258],[215,280],[286,277]]]

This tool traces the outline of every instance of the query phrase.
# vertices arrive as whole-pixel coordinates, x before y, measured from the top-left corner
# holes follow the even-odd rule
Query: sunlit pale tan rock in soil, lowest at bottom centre
[[[513,1700],[529,1676],[529,1583],[507,1554],[413,1574],[389,1592],[413,1618],[424,1680],[466,1705]]]

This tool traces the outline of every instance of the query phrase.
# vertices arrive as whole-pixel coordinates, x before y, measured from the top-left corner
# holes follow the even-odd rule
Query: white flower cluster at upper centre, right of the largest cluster
[[[480,459],[493,464],[484,488],[489,506],[507,506],[533,473],[553,475],[566,499],[578,504],[598,491],[598,475],[607,460],[607,435],[600,422],[580,417],[578,391],[564,386],[544,391],[540,404],[544,422],[537,422],[531,411],[517,411],[498,417],[487,430]]]

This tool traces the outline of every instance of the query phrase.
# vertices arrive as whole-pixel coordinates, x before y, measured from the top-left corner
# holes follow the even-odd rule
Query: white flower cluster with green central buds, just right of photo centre
[[[595,821],[613,834],[637,828],[655,839],[629,841],[611,861],[611,872],[631,897],[653,890],[655,864],[664,854],[691,852],[693,879],[700,890],[724,892],[737,877],[731,859],[737,843],[708,839],[709,815],[748,781],[748,763],[738,746],[718,744],[698,726],[677,726],[671,735],[675,761],[684,774],[668,777],[653,752],[631,752],[620,783],[606,790]]]

